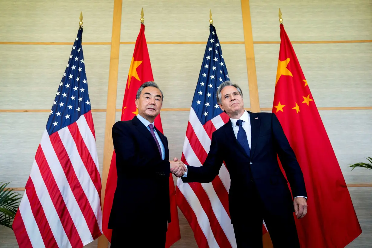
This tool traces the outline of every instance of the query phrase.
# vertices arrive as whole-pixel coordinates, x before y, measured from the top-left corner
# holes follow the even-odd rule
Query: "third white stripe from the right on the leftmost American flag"
[[[61,163],[58,160],[57,155],[55,154],[47,129],[45,129],[44,131],[40,145],[44,151],[45,159],[49,164],[49,168],[52,171],[55,182],[57,183],[58,189],[62,194],[63,200],[66,204],[68,212],[70,213],[71,219],[74,222],[80,239],[82,241],[92,239],[92,235],[90,233],[87,222],[83,216],[83,213],[80,210],[80,207],[75,199],[74,194],[71,191],[70,185],[68,184]]]

